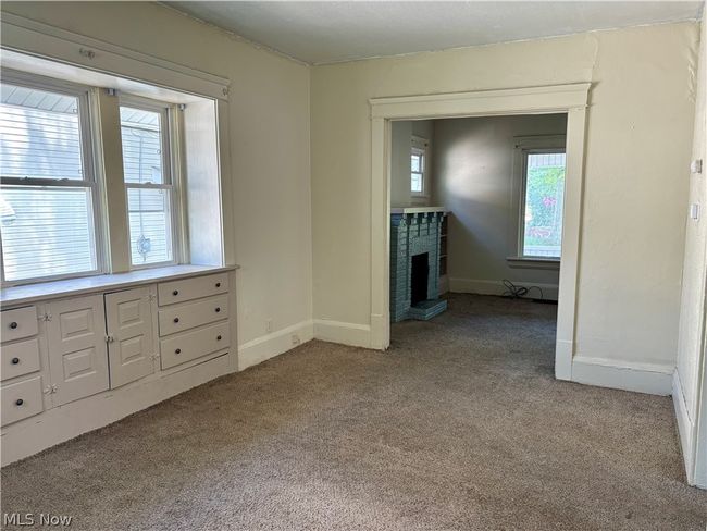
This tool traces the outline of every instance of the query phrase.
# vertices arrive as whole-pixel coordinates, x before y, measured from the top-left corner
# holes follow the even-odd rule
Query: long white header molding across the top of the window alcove
[[[228,98],[226,77],[201,72],[135,50],[2,13],[2,48],[96,72],[142,81],[216,99]]]

